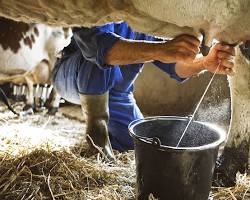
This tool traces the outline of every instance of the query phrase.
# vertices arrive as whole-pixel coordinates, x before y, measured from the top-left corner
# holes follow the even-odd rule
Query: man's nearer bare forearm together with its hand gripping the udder
[[[191,63],[199,53],[200,41],[191,35],[180,35],[171,41],[120,39],[105,55],[109,65],[127,65],[158,60],[163,63]]]

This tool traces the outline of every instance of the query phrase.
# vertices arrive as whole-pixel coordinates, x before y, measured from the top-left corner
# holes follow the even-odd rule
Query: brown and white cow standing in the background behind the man
[[[25,24],[0,18],[0,83],[27,84],[27,105],[34,108],[34,84],[50,84],[56,55],[70,43],[71,29],[44,24]],[[59,107],[52,90],[50,109]]]

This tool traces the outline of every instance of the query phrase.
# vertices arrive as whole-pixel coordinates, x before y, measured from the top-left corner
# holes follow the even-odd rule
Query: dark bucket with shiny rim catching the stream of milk
[[[150,117],[132,122],[137,198],[207,200],[219,145],[225,132],[213,124],[193,121],[176,147],[189,118]]]

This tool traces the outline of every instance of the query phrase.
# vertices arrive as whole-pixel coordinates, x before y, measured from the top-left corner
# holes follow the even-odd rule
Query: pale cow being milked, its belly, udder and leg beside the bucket
[[[135,30],[158,36],[181,33],[205,35],[226,43],[250,38],[249,0],[8,0],[0,1],[0,15],[26,22],[63,26],[93,26],[126,20]],[[229,79],[232,96],[231,131],[224,151],[227,177],[247,165],[250,130],[250,65],[237,53],[238,73]]]

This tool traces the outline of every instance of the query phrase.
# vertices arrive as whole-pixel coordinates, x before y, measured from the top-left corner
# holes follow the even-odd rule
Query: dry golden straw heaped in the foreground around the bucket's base
[[[35,149],[0,158],[0,199],[136,199],[133,152],[117,154],[117,163],[104,163],[80,148]],[[250,199],[250,178],[238,175],[232,188],[213,188],[210,199]],[[149,199],[155,199],[150,196]]]

